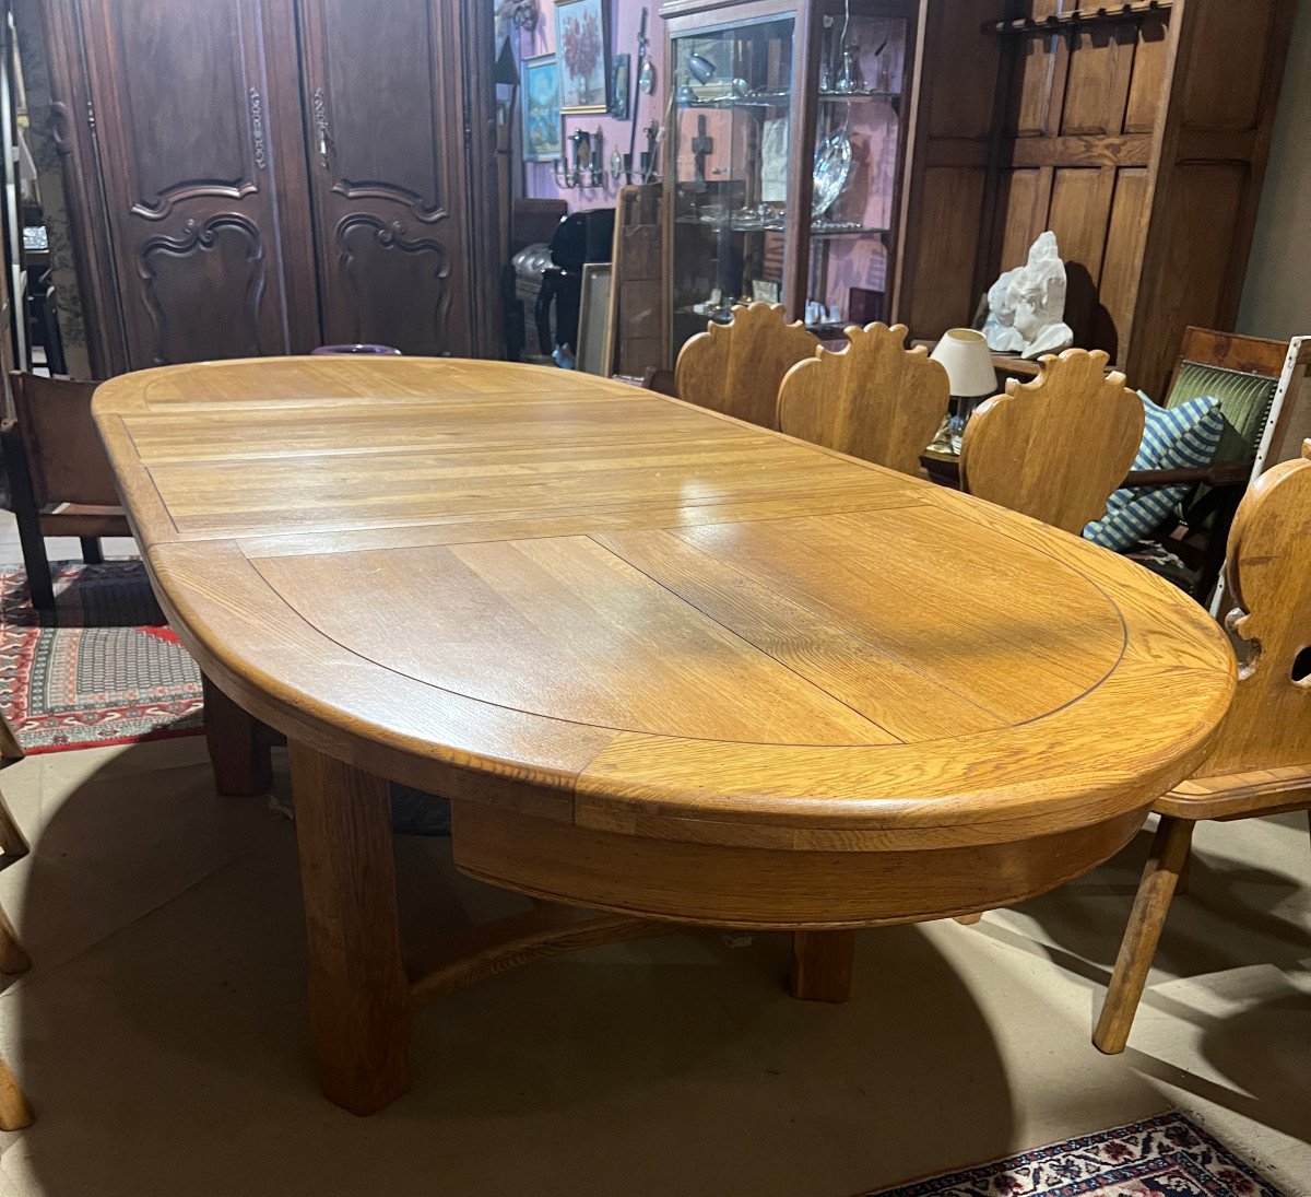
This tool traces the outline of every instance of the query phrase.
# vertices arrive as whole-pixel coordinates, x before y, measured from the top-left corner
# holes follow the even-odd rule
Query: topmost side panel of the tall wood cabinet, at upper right
[[[1183,72],[1183,122],[1202,129],[1252,129],[1261,116],[1273,0],[1217,4],[1196,10],[1193,60]]]

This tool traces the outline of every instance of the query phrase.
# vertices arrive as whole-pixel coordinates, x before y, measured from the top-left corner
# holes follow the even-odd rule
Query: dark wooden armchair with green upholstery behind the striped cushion
[[[1206,469],[1139,471],[1125,479],[1127,487],[1190,486],[1171,518],[1148,538],[1151,547],[1131,555],[1200,602],[1219,579],[1234,512],[1247,490],[1287,362],[1287,341],[1188,328],[1164,406],[1173,408],[1201,395],[1219,400],[1224,432],[1215,461]]]

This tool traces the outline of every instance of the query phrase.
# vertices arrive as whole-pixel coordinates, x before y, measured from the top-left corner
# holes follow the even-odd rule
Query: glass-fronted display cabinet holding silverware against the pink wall
[[[671,357],[733,303],[888,318],[919,0],[667,0]]]

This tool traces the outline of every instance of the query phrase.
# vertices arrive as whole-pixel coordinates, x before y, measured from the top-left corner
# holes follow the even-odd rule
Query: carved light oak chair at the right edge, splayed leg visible
[[[1262,474],[1228,539],[1226,621],[1247,644],[1234,705],[1201,769],[1152,807],[1160,826],[1092,1041],[1125,1050],[1201,819],[1311,808],[1311,441]]]

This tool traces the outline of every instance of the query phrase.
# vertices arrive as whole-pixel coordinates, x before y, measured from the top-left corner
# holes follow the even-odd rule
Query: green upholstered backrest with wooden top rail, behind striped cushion
[[[1287,341],[1190,326],[1180,343],[1165,407],[1202,395],[1218,399],[1224,432],[1215,461],[1251,462],[1287,356]]]

